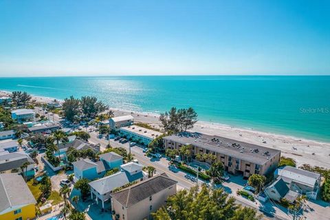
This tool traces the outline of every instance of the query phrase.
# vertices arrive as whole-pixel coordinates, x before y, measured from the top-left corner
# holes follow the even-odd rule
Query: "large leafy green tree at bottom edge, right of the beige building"
[[[166,207],[153,213],[154,219],[221,219],[221,220],[257,220],[261,217],[250,208],[243,210],[235,203],[233,197],[223,189],[211,190],[203,185],[199,191],[197,187],[180,190],[176,195],[168,197]],[[243,212],[247,215],[243,215]]]

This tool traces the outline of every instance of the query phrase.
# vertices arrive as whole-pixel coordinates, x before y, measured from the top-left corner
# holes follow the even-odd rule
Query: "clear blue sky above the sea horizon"
[[[0,76],[330,74],[330,1],[0,1]]]

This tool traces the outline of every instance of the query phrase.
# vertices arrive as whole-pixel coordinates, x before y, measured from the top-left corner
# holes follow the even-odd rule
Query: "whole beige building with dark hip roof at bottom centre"
[[[177,192],[177,181],[165,173],[124,188],[112,195],[113,219],[151,219],[151,213],[166,205],[168,197]]]

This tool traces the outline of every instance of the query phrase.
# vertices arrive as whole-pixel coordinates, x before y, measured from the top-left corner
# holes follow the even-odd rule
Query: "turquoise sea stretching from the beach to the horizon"
[[[107,76],[0,78],[0,90],[161,113],[193,107],[199,120],[330,140],[330,76]]]

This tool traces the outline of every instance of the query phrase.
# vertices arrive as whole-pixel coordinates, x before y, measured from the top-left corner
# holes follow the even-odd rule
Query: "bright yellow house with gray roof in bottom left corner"
[[[0,219],[28,220],[36,217],[34,199],[23,177],[17,173],[0,174]]]

